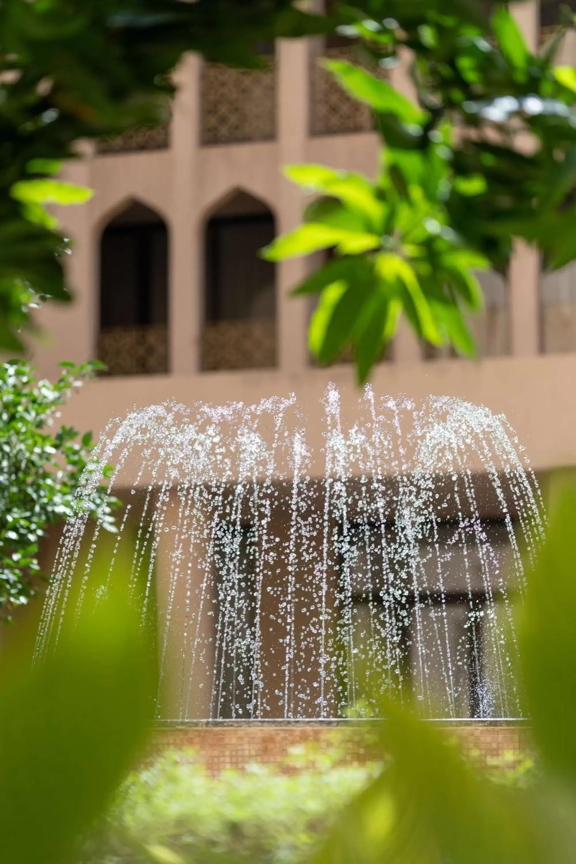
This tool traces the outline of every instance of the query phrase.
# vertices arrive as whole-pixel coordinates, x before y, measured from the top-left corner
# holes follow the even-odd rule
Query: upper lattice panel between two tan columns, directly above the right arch
[[[276,137],[276,74],[272,58],[262,69],[205,63],[201,84],[203,145],[272,141]]]

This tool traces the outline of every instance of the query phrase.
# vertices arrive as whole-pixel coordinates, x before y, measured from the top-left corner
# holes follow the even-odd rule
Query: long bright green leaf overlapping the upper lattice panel
[[[346,60],[323,60],[322,65],[331,72],[346,92],[365,102],[379,114],[393,114],[404,124],[423,125],[427,113],[402,96],[388,81],[376,78]]]

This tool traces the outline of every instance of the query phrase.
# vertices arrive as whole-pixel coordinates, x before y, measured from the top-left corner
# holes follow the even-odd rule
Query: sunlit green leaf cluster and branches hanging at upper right
[[[417,104],[366,69],[325,61],[375,113],[379,173],[289,168],[322,197],[263,255],[335,251],[296,293],[320,292],[313,353],[330,362],[353,346],[364,382],[402,311],[419,338],[472,356],[475,271],[504,270],[514,238],[552,269],[576,257],[576,73],[554,66],[568,25],[531,54],[505,6],[490,19],[465,0],[351,0],[339,14],[340,32],[384,67],[412,53]]]

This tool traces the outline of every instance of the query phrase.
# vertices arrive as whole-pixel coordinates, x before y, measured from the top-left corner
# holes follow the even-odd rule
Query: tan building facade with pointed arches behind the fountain
[[[533,47],[541,39],[541,20],[546,23],[539,15],[535,3],[518,6],[518,20]],[[187,57],[176,76],[178,94],[169,123],[85,147],[82,158],[66,169],[70,179],[92,187],[95,194],[89,204],[59,214],[73,238],[68,274],[74,302],[68,308],[48,304],[41,309],[46,338],[35,361],[47,376],[54,375],[61,359],[98,357],[108,365],[109,373],[87,384],[66,407],[64,420],[83,431],[98,435],[112,417],[168,399],[183,405],[252,405],[294,392],[303,413],[314,418],[331,381],[342,397],[343,423],[353,425],[358,385],[351,364],[330,369],[314,365],[307,351],[310,303],[290,296],[319,260],[274,267],[258,259],[256,251],[301,221],[306,198],[283,178],[282,165],[320,162],[374,175],[380,142],[370,113],[346,97],[318,64],[326,54],[352,59],[345,40],[280,41],[263,51],[268,66],[256,71]],[[570,61],[572,53],[568,44],[563,60]],[[389,75],[409,95],[406,68]],[[416,403],[436,395],[485,405],[508,418],[537,473],[576,465],[576,266],[548,275],[535,251],[519,244],[507,274],[489,273],[482,279],[486,308],[472,321],[479,359],[430,351],[402,325],[373,374],[374,391],[407,394]],[[310,426],[308,438],[320,453],[320,426],[314,420]],[[311,473],[313,481],[323,476],[321,467]],[[123,474],[124,488],[148,484],[145,474],[140,479],[137,473]],[[179,494],[176,489],[160,493],[168,502],[162,519],[171,530],[174,524],[176,532]],[[481,516],[494,518],[485,508]],[[275,530],[282,545],[282,518]],[[287,537],[290,530],[284,530]],[[178,571],[174,543],[170,538],[159,543],[161,572]],[[288,541],[284,545],[288,548]],[[461,569],[460,562],[453,567]],[[300,564],[298,569],[306,575]],[[208,646],[201,664],[206,677],[202,692],[212,694],[212,709],[208,697],[182,702],[180,696],[177,714],[206,717],[219,710],[211,671],[218,651],[223,668],[227,660],[225,648],[212,644],[212,625],[187,600],[187,594],[206,593],[200,569],[194,564],[189,571],[188,582],[172,576],[161,582],[161,608],[168,620],[173,616],[166,651],[174,658],[169,665],[175,690],[181,691],[186,681],[200,693],[198,670],[188,668],[182,652],[190,638],[189,622],[198,613]],[[214,604],[218,578],[210,575]],[[456,580],[454,602],[463,585]],[[466,590],[470,593],[470,584]],[[431,608],[437,608],[434,592],[428,594]],[[484,602],[484,588],[478,598],[480,594]],[[276,645],[274,628],[282,616],[273,605],[270,609],[276,622],[270,645]],[[362,611],[360,605],[358,609]],[[221,608],[217,614],[222,615]],[[454,607],[446,633],[465,645],[459,614]],[[295,632],[306,632],[295,620]],[[275,699],[278,690],[272,681],[287,665],[270,659],[274,649],[263,644],[269,658],[265,686],[272,694],[270,715],[288,716],[286,698]],[[308,664],[306,651],[302,657],[302,664]],[[251,654],[246,663],[253,663]],[[299,674],[294,680],[306,677]],[[477,710],[469,698],[472,683],[465,684],[465,707],[453,711],[472,715]],[[315,710],[307,708],[306,715],[314,716]],[[168,715],[175,716],[172,708]]]

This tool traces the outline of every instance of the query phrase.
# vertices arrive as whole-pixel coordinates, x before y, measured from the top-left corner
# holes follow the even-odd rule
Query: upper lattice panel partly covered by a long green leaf
[[[369,106],[349,96],[332,73],[320,66],[320,60],[326,58],[350,60],[358,64],[353,45],[326,48],[323,57],[313,59],[310,94],[311,134],[341,135],[346,132],[369,132],[374,129],[374,118]],[[384,74],[382,70],[382,75]]]

